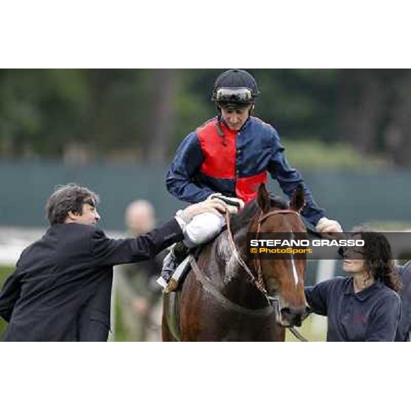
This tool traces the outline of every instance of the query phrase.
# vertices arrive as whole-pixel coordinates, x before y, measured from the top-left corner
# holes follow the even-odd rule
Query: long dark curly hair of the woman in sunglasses
[[[368,275],[394,291],[401,290],[401,277],[394,264],[391,246],[384,234],[358,229],[356,234],[364,240],[364,264]]]

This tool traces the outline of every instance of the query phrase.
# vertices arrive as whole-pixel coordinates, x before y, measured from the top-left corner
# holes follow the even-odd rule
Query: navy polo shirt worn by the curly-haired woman
[[[382,282],[354,292],[353,277],[306,287],[310,308],[327,316],[327,341],[393,341],[401,302]]]

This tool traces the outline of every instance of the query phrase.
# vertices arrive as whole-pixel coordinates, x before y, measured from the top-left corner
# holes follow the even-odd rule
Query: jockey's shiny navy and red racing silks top
[[[203,201],[213,192],[247,203],[256,198],[267,172],[288,197],[303,183],[306,207],[302,214],[312,225],[325,216],[299,171],[288,164],[277,131],[252,116],[238,132],[215,117],[188,134],[167,173],[166,187],[188,203]]]

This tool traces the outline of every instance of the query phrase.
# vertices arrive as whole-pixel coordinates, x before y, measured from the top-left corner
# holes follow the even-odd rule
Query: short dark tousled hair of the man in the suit
[[[77,186],[74,183],[58,186],[58,189],[47,200],[47,219],[50,225],[62,224],[66,221],[69,211],[82,215],[84,203],[96,206],[98,202],[99,196],[86,187]]]

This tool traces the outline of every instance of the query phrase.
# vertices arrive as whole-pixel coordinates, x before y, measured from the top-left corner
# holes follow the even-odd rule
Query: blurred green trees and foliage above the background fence
[[[0,160],[169,162],[222,69],[2,69]],[[292,164],[410,166],[411,71],[250,69]]]

